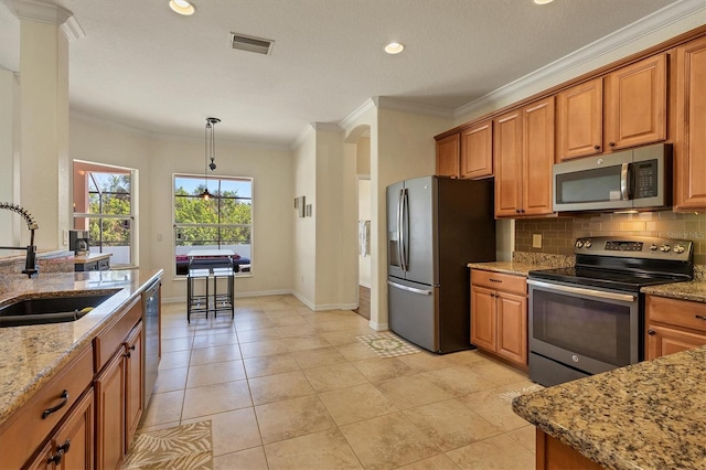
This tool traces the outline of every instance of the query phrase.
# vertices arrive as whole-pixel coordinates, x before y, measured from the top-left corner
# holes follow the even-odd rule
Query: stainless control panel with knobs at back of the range
[[[691,241],[659,237],[584,237],[578,238],[574,245],[574,253],[576,255],[672,259],[680,261],[688,261],[692,259],[693,249],[693,243]]]

